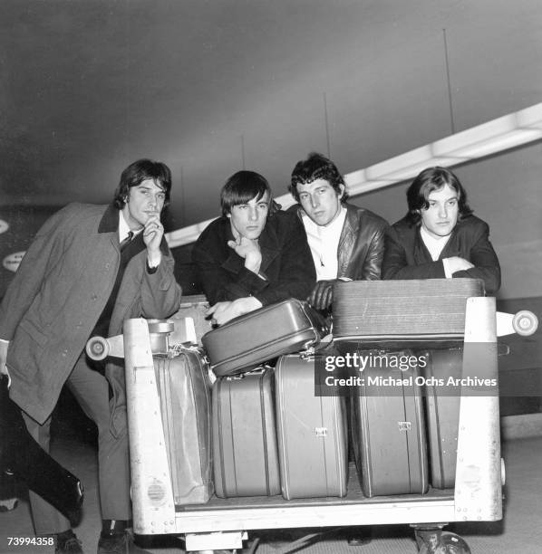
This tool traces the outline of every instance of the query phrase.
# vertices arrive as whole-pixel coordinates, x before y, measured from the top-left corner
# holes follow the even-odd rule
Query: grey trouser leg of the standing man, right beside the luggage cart
[[[103,520],[130,520],[130,461],[126,414],[124,425],[115,420],[116,435],[110,429],[109,384],[101,373],[90,368],[84,354],[75,364],[68,387],[84,413],[98,427],[98,473]]]

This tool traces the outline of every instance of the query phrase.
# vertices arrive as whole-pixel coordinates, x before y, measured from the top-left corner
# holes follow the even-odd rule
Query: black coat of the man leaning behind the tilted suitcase
[[[262,305],[288,298],[305,300],[315,285],[315,267],[305,228],[294,215],[276,212],[268,216],[258,244],[260,272],[247,270],[245,260],[227,245],[234,240],[227,217],[211,222],[192,250],[198,281],[208,301],[234,301],[254,296]]]

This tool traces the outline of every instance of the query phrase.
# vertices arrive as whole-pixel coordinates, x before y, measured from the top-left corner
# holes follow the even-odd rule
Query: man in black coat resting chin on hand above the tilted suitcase
[[[278,209],[266,179],[238,171],[222,188],[220,204],[222,217],[192,251],[214,322],[288,298],[305,300],[315,283],[305,231]]]

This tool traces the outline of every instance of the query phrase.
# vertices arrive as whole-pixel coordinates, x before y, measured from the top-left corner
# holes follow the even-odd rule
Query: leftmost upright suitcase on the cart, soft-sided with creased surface
[[[208,366],[192,349],[153,359],[173,500],[205,503],[213,493]]]

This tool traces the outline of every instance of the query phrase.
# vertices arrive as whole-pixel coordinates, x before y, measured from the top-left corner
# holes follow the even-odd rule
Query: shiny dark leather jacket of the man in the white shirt
[[[384,234],[388,223],[380,215],[352,204],[344,204],[346,217],[337,247],[337,278],[376,281],[381,278]],[[303,207],[288,209],[301,219]]]

